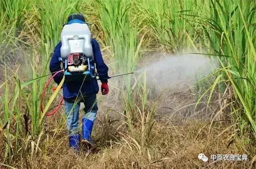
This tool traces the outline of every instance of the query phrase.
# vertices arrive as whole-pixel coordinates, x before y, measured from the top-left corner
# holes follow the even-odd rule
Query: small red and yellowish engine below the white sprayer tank
[[[84,72],[87,70],[86,56],[81,53],[74,53],[68,56],[69,72]]]

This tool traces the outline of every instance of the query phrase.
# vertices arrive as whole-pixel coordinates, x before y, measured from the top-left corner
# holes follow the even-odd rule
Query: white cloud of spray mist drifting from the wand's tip
[[[156,53],[153,61],[136,73],[147,73],[147,85],[156,89],[181,90],[211,74],[218,64],[201,54]],[[146,57],[147,58],[147,57]]]

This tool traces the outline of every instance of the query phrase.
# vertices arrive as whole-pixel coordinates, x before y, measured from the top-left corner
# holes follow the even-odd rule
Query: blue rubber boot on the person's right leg
[[[82,119],[82,136],[83,136],[83,143],[89,143],[92,145],[90,140],[90,135],[93,127],[93,121],[83,118]]]

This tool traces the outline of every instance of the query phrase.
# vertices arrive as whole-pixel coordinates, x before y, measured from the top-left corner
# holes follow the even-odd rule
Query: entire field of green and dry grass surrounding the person
[[[71,13],[85,15],[110,75],[149,62],[154,71],[161,53],[188,51],[218,68],[179,91],[152,89],[150,72],[109,79],[109,94],[98,94],[97,146],[75,153],[64,109],[40,112],[51,53]],[[1,0],[0,169],[256,167],[255,17],[253,0]],[[53,96],[49,89],[44,105]],[[248,160],[204,163],[199,153]]]

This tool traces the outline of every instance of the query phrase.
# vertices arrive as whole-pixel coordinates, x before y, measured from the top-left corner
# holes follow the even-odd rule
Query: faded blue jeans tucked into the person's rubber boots
[[[79,108],[80,102],[84,103],[84,116],[91,121],[94,121],[98,111],[96,94],[90,94],[75,101],[75,99],[65,99],[65,114],[67,116],[68,134],[79,134]]]

